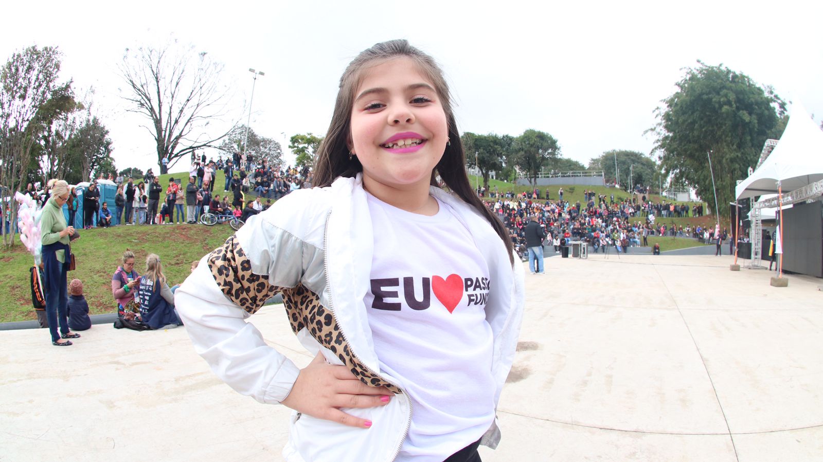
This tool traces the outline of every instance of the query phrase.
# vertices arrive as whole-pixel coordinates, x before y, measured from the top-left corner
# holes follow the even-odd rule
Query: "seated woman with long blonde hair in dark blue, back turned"
[[[137,298],[140,300],[140,315],[143,324],[151,329],[172,329],[183,325],[174,311],[174,294],[165,281],[163,265],[157,254],[146,257],[146,273],[140,277],[137,289]]]

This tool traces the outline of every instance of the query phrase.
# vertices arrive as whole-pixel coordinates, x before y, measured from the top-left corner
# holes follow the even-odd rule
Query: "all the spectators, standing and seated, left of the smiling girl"
[[[235,169],[235,165],[240,167]],[[214,189],[217,169],[226,175],[222,197]],[[185,182],[170,178],[168,185],[162,185],[151,169],[137,181],[133,177],[114,179],[117,184],[114,210],[109,209],[108,202],[100,200],[96,180],[81,194],[63,180],[50,180],[42,189],[39,184],[28,184],[25,194],[43,210],[43,261],[30,268],[32,304],[40,326],[49,329],[56,346],[71,345],[71,339],[81,337],[74,331],[91,328],[82,282],[76,278],[67,282],[67,271],[73,269],[75,261],[68,244],[79,236],[72,224],[81,208],[83,214],[79,219],[86,229],[119,224],[171,224],[175,217],[176,223],[193,223],[203,212],[245,221],[271,206],[272,199],[311,187],[311,180],[312,172],[308,168],[283,169],[269,166],[266,161],[257,165],[251,156],[242,161],[237,155],[226,161],[206,161],[205,156],[193,156]],[[256,197],[248,197],[247,201],[244,200],[246,194]],[[196,264],[193,262],[192,268]],[[115,327],[147,330],[181,324],[171,295],[176,287],[169,287],[160,256],[147,255],[146,270],[142,274],[137,273],[134,266],[135,256],[127,250],[112,277],[112,296],[118,307]]]

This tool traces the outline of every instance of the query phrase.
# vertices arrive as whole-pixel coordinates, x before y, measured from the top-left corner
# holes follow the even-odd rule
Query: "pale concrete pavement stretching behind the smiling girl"
[[[528,275],[486,462],[823,460],[821,280],[732,257],[590,254]],[[528,267],[528,263],[525,264]],[[280,306],[251,319],[299,366]],[[184,328],[0,332],[0,460],[281,460],[288,412],[212,375]]]

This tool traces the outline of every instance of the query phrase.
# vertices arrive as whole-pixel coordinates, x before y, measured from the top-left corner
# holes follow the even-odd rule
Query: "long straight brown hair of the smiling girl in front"
[[[503,240],[509,252],[509,261],[514,264],[512,241],[503,222],[500,222],[500,218],[477,197],[472,184],[468,181],[466,154],[463,152],[463,143],[460,142],[460,133],[458,133],[457,122],[452,110],[451,94],[443,72],[433,58],[414,48],[407,40],[389,40],[375,44],[358,54],[346,67],[346,71],[340,77],[340,89],[337,91],[332,122],[328,126],[326,137],[320,143],[317,160],[314,162],[314,185],[322,188],[332,184],[338,176],[353,177],[363,171],[363,166],[356,156],[349,158],[348,139],[351,133],[351,108],[354,104],[355,91],[366,69],[387,59],[398,57],[411,58],[425,77],[429,78],[435,86],[446,114],[450,142],[446,144],[443,157],[435,166],[435,170],[431,172],[431,184],[439,186],[436,180],[439,176],[447,188],[486,217],[497,235]]]

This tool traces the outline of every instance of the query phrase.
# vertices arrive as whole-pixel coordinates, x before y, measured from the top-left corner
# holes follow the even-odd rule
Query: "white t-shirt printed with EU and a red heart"
[[[495,418],[489,269],[448,205],[426,217],[369,194],[374,228],[364,301],[381,371],[412,397],[398,461],[437,461],[480,439]]]

